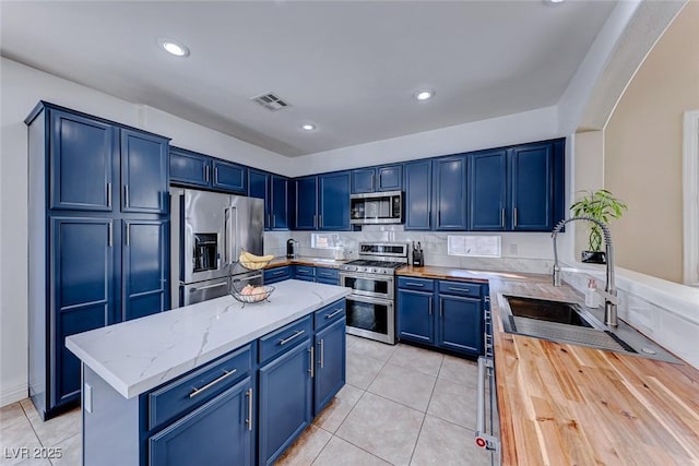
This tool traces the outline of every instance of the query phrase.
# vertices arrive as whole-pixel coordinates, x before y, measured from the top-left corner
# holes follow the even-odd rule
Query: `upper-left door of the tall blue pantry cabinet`
[[[49,208],[111,212],[117,130],[97,119],[50,110]],[[116,168],[118,170],[118,167]],[[117,178],[118,179],[118,178]]]

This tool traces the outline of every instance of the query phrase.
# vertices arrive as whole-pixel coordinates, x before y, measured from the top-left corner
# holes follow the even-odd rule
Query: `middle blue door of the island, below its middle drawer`
[[[311,338],[306,338],[303,344],[260,368],[259,464],[273,464],[310,425],[312,360]]]

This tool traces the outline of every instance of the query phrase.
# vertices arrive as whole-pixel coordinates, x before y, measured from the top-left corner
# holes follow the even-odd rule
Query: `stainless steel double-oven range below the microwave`
[[[359,258],[340,267],[347,296],[347,333],[395,344],[395,271],[407,264],[406,243],[363,242]]]

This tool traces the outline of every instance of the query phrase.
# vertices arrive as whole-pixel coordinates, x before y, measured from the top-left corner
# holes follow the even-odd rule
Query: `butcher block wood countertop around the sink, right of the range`
[[[427,266],[398,274],[472,279],[462,272]],[[552,286],[547,275],[488,274],[482,276],[490,287],[502,464],[699,465],[699,371],[506,333],[503,294],[582,296]]]

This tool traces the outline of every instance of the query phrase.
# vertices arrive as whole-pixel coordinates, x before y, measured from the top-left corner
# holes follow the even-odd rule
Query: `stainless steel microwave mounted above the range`
[[[354,225],[402,224],[403,191],[351,194],[350,223]]]

